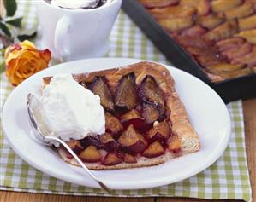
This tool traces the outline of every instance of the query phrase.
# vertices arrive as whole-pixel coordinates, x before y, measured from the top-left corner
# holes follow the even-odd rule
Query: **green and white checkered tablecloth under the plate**
[[[18,15],[24,15],[24,26],[37,25],[33,1],[17,0]],[[126,14],[119,14],[110,34],[110,57],[134,57],[143,60],[167,63],[150,40],[134,25]],[[13,89],[4,73],[1,74],[0,107]],[[191,197],[199,199],[243,199],[252,201],[241,101],[228,106],[232,120],[232,136],[223,156],[211,167],[182,182],[159,188],[104,191],[63,182],[34,169],[19,158],[9,147],[0,131],[0,189],[32,193],[58,193],[71,195],[117,196],[117,197]],[[18,134],[17,134],[18,135]]]

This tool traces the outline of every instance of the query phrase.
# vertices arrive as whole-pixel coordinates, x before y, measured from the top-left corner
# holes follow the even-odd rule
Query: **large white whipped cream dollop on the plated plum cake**
[[[51,78],[42,93],[40,115],[50,136],[63,141],[80,140],[105,131],[99,96],[78,84],[71,74]]]

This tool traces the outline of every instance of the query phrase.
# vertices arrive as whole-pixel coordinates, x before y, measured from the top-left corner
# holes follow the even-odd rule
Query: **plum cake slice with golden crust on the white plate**
[[[88,168],[151,166],[199,150],[199,136],[164,66],[140,62],[73,78],[99,95],[104,107],[104,134],[67,141]],[[44,78],[44,85],[50,80]],[[79,165],[63,147],[57,150],[64,161]]]

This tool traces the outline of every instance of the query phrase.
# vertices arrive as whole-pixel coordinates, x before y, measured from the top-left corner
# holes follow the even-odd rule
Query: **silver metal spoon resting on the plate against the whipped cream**
[[[32,125],[32,128],[33,128],[33,135],[35,136],[35,138],[46,146],[52,146],[54,143],[63,145],[63,147],[65,147],[68,150],[68,152],[74,157],[74,159],[81,165],[83,170],[85,170],[86,173],[92,177],[92,179],[98,182],[98,185],[101,188],[103,188],[107,192],[110,192],[110,188],[108,188],[104,184],[104,182],[98,180],[97,176],[94,176],[92,174],[92,171],[89,170],[85,164],[83,164],[80,158],[73,152],[73,150],[70,147],[68,147],[68,145],[64,141],[62,141],[61,139],[55,136],[44,136],[42,134],[41,130],[39,129],[39,124],[37,123],[36,118],[34,116],[35,107],[38,107],[38,106],[39,106],[39,101],[37,100],[37,98],[33,94],[28,94],[27,95],[27,112],[28,112],[30,124]]]

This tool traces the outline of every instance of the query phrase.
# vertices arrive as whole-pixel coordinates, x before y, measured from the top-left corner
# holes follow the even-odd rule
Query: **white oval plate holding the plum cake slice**
[[[9,145],[33,167],[67,182],[98,188],[80,168],[63,162],[56,152],[31,138],[26,98],[40,95],[41,78],[63,72],[91,72],[139,62],[134,59],[100,58],[72,61],[52,66],[20,84],[9,95],[3,107],[3,130]],[[129,170],[93,171],[110,188],[152,188],[178,182],[205,170],[223,153],[229,142],[229,113],[221,98],[205,83],[171,66],[166,66],[176,81],[176,90],[184,102],[191,122],[198,131],[201,149],[198,153],[170,160],[158,166]]]

